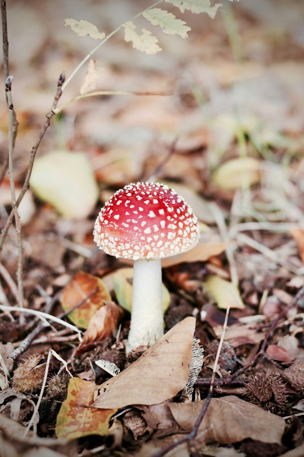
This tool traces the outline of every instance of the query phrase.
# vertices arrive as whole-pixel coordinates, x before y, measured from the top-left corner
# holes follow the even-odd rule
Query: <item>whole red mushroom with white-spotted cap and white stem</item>
[[[129,184],[101,209],[94,241],[107,254],[134,260],[127,353],[164,334],[161,259],[190,250],[199,237],[192,209],[163,184]]]

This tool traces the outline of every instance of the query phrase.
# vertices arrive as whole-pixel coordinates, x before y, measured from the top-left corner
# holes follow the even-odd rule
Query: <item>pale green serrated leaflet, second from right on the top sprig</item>
[[[160,8],[152,8],[151,10],[145,11],[143,16],[151,22],[154,26],[160,26],[162,31],[166,35],[180,35],[182,38],[187,38],[187,32],[191,30],[191,27],[185,25],[185,21],[176,19],[174,14],[168,13],[168,11],[161,10]]]

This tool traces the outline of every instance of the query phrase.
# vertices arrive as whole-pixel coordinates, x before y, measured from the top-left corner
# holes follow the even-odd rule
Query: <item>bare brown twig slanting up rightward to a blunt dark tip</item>
[[[65,74],[64,74],[64,72],[62,72],[62,74],[59,76],[59,79],[58,79],[58,82],[57,82],[57,91],[56,91],[56,95],[55,95],[53,103],[52,103],[51,110],[47,113],[45,121],[44,121],[43,126],[41,128],[41,131],[39,133],[39,136],[38,136],[38,138],[36,140],[36,143],[34,144],[32,150],[31,150],[31,158],[30,158],[30,163],[29,163],[28,169],[27,169],[26,179],[25,179],[25,182],[24,182],[23,187],[21,189],[20,195],[19,195],[19,197],[17,199],[17,202],[16,202],[16,206],[17,207],[20,205],[20,202],[21,202],[22,198],[24,197],[24,194],[26,193],[27,189],[30,186],[31,172],[32,172],[33,165],[34,165],[36,152],[37,152],[37,149],[39,148],[39,145],[41,143],[42,138],[44,137],[44,134],[46,133],[46,130],[49,128],[49,126],[51,124],[52,117],[55,114],[54,110],[56,109],[57,103],[58,103],[58,101],[59,101],[59,99],[60,99],[60,97],[62,95],[62,84],[63,84],[64,80],[65,80]],[[11,211],[9,218],[6,221],[5,228],[3,229],[2,236],[1,236],[1,239],[0,239],[0,250],[3,247],[4,241],[5,241],[5,238],[7,236],[8,230],[9,230],[9,228],[11,226],[13,217],[14,217],[14,212]]]

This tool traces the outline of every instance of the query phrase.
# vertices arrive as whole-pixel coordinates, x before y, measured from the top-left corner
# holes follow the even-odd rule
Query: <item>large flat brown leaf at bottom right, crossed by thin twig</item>
[[[175,420],[185,430],[191,431],[204,401],[171,403]],[[235,443],[246,438],[265,443],[281,443],[285,428],[282,417],[269,413],[234,395],[213,398],[201,421],[198,437],[206,442]]]

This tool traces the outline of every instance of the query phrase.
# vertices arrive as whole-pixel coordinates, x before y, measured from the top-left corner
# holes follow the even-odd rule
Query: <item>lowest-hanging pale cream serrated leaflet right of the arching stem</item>
[[[139,35],[135,32],[136,26],[131,21],[125,22],[122,27],[124,27],[125,31],[124,40],[127,42],[131,41],[133,48],[149,55],[155,55],[161,51],[160,46],[157,44],[158,39],[149,30],[143,28],[141,29],[143,33]]]

